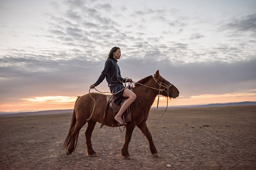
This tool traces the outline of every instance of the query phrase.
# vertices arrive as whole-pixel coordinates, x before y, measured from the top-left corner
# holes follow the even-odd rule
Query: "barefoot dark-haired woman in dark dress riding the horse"
[[[118,122],[118,125],[126,125],[124,120],[122,119],[122,114],[127,110],[129,105],[133,103],[136,99],[136,94],[129,89],[124,89],[125,87],[122,84],[124,78],[121,77],[120,68],[117,64],[117,59],[121,57],[121,50],[119,47],[113,47],[108,54],[108,59],[105,62],[104,70],[99,76],[96,83],[90,86],[90,89],[94,89],[97,85],[99,85],[104,78],[106,77],[106,81],[108,82],[108,87],[112,94],[117,93],[116,99],[114,103],[120,105],[122,102],[122,97],[127,97],[128,99],[123,103],[120,111],[115,116],[115,120]],[[132,79],[128,81],[132,82]]]

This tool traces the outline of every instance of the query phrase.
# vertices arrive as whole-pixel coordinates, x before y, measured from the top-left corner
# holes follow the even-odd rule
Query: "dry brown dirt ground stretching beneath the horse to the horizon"
[[[150,117],[162,111],[151,110]],[[120,155],[125,133],[99,129],[99,123],[92,136],[98,157],[86,155],[87,125],[75,152],[66,155],[61,147],[71,115],[1,117],[0,169],[256,170],[256,106],[168,110],[147,121],[160,157],[152,157],[136,127],[129,144],[131,160]]]

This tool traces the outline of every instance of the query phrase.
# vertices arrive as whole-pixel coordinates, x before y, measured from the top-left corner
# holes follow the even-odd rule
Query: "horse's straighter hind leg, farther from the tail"
[[[88,156],[97,156],[97,153],[93,150],[92,143],[91,143],[92,131],[93,131],[95,125],[96,125],[96,122],[94,122],[92,120],[88,121],[88,126],[87,126],[87,129],[85,132]]]

